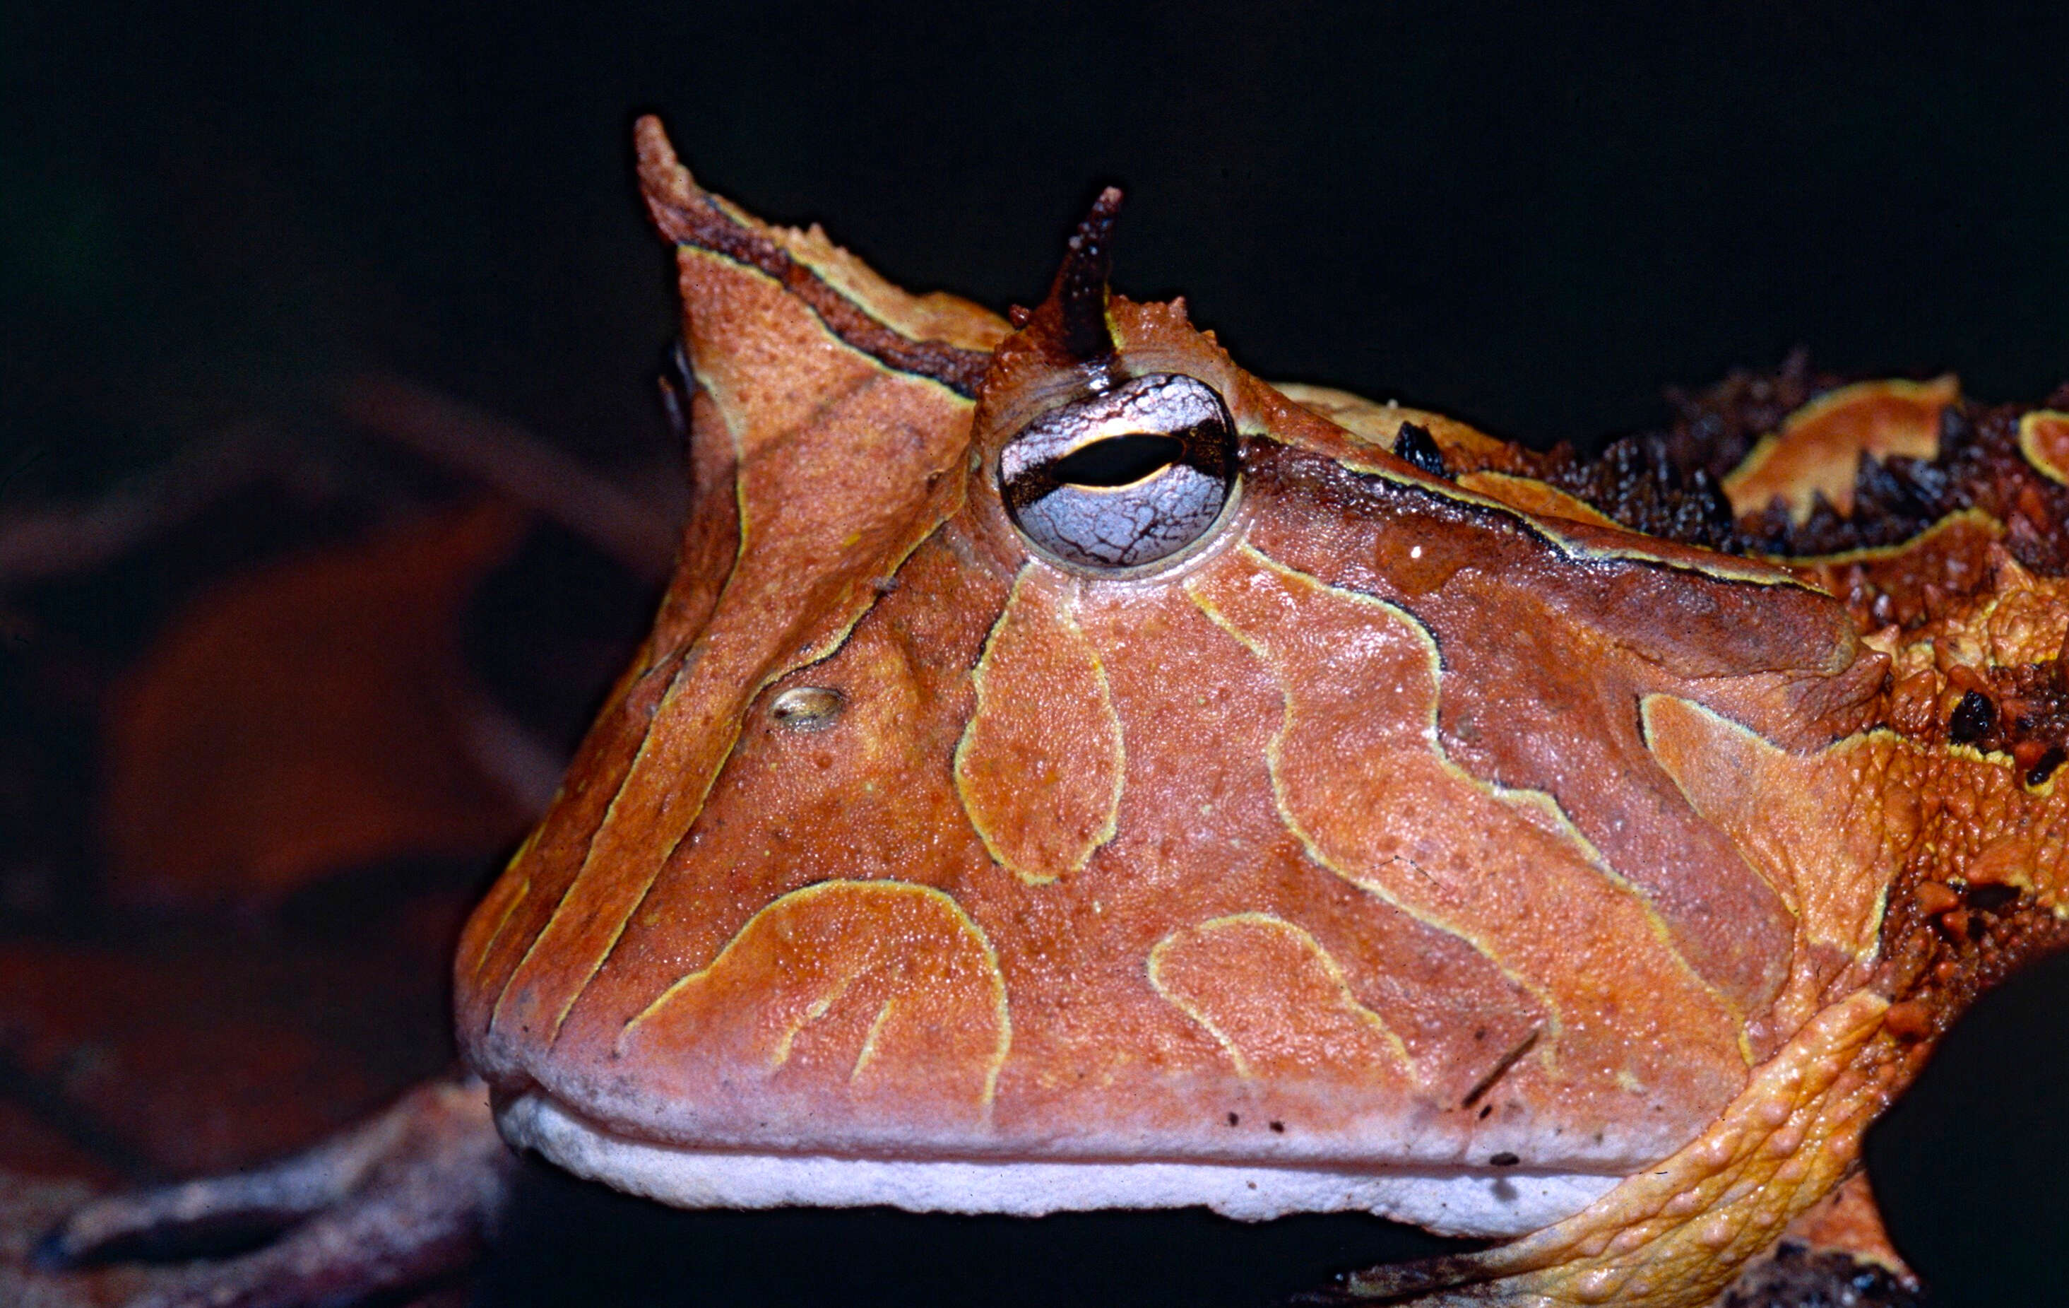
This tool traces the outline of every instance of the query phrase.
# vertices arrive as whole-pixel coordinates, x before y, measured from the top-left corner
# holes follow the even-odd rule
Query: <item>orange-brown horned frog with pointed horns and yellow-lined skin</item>
[[[2065,940],[2069,414],[1740,379],[1533,453],[1111,294],[1115,192],[1006,321],[637,139],[695,509],[457,952],[511,1144],[1500,1240],[1322,1298],[1682,1308],[1783,1236],[1901,1289],[1860,1134]]]

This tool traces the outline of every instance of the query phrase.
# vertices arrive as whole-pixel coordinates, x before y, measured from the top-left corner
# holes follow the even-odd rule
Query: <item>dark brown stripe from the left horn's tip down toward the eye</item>
[[[745,228],[710,195],[691,184],[674,149],[668,147],[660,122],[641,118],[635,126],[635,139],[639,145],[639,190],[646,195],[648,213],[654,215],[654,226],[660,228],[662,236],[677,244],[724,255],[776,277],[848,346],[888,368],[929,377],[958,395],[977,397],[977,383],[991,366],[989,352],[962,350],[943,341],[914,341],[886,327],[792,259],[788,250]]]

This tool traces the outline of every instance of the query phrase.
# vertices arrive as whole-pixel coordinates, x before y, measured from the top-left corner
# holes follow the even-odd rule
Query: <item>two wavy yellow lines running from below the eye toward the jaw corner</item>
[[[1328,594],[1330,598],[1339,598],[1339,600],[1345,600],[1345,602],[1349,602],[1353,606],[1361,606],[1361,608],[1368,608],[1368,611],[1372,611],[1376,615],[1382,615],[1386,619],[1388,627],[1392,627],[1392,629],[1409,635],[1409,640],[1415,642],[1415,646],[1419,648],[1419,652],[1421,652],[1421,656],[1426,660],[1426,666],[1430,671],[1430,685],[1436,689],[1436,693],[1430,697],[1428,716],[1419,724],[1417,735],[1421,737],[1423,747],[1438,762],[1438,766],[1442,768],[1442,772],[1448,778],[1452,778],[1452,780],[1457,780],[1457,782],[1461,782],[1465,786],[1471,786],[1473,791],[1486,795],[1488,799],[1492,799],[1496,803],[1502,803],[1504,807],[1510,807],[1510,809],[1531,809],[1531,811],[1539,813],[1539,818],[1550,818],[1556,824],[1556,828],[1558,828],[1556,834],[1562,836],[1566,840],[1566,844],[1575,851],[1577,863],[1585,863],[1591,871],[1595,871],[1597,875],[1601,875],[1603,882],[1610,888],[1614,888],[1622,896],[1622,900],[1628,902],[1641,915],[1641,919],[1647,923],[1647,927],[1649,927],[1655,944],[1659,946],[1659,952],[1663,954],[1663,958],[1668,960],[1668,964],[1672,967],[1672,971],[1680,973],[1692,987],[1697,987],[1703,995],[1707,995],[1719,1008],[1719,1012],[1723,1016],[1730,1018],[1732,1031],[1736,1033],[1738,1056],[1740,1056],[1742,1062],[1746,1062],[1750,1066],[1752,1047],[1750,1047],[1748,1037],[1744,1033],[1744,1010],[1738,1004],[1734,1004],[1728,995],[1723,995],[1715,985],[1711,985],[1699,971],[1695,971],[1695,967],[1688,962],[1688,958],[1682,954],[1682,950],[1674,942],[1672,929],[1659,917],[1657,909],[1651,904],[1651,900],[1645,896],[1645,892],[1641,888],[1637,888],[1635,884],[1630,884],[1630,880],[1626,880],[1622,873],[1618,873],[1608,863],[1608,859],[1601,855],[1601,851],[1595,849],[1595,844],[1591,840],[1587,840],[1587,836],[1581,834],[1581,830],[1572,824],[1572,820],[1566,815],[1566,811],[1558,805],[1558,799],[1552,797],[1552,795],[1546,795],[1541,791],[1508,789],[1508,786],[1498,786],[1494,782],[1488,782],[1488,780],[1483,780],[1479,776],[1473,776],[1469,770],[1461,768],[1446,753],[1442,737],[1438,735],[1438,704],[1440,704],[1440,697],[1442,697],[1442,671],[1444,671],[1444,664],[1442,664],[1442,656],[1438,652],[1436,640],[1421,625],[1421,621],[1415,619],[1413,613],[1401,608],[1399,604],[1390,604],[1390,602],[1386,602],[1386,600],[1382,600],[1378,596],[1370,596],[1370,594],[1363,594],[1363,592],[1345,590],[1345,588],[1339,588],[1339,586],[1328,586],[1326,582],[1322,582],[1318,577],[1312,577],[1312,575],[1308,575],[1308,573],[1303,573],[1303,571],[1299,571],[1295,567],[1287,567],[1285,563],[1279,563],[1277,559],[1272,559],[1272,557],[1264,555],[1262,551],[1258,551],[1248,540],[1241,542],[1241,544],[1237,544],[1237,551],[1239,551],[1241,557],[1250,559],[1252,563],[1256,563],[1264,571],[1279,575],[1291,588]],[[1186,592],[1192,598],[1192,602],[1198,604],[1200,611],[1206,613],[1206,617],[1212,619],[1217,627],[1221,627],[1223,631],[1227,631],[1246,650],[1250,650],[1252,656],[1256,656],[1260,664],[1264,664],[1266,668],[1275,668],[1275,660],[1270,656],[1270,650],[1260,640],[1256,640],[1254,635],[1250,635],[1248,631],[1243,631],[1233,619],[1229,619],[1225,613],[1221,613],[1215,606],[1215,602],[1206,594],[1200,592],[1198,582],[1200,582],[1198,577],[1188,577],[1188,582],[1186,582]],[[1486,956],[1496,969],[1500,969],[1500,973],[1504,977],[1508,977],[1519,987],[1523,987],[1525,991],[1529,991],[1543,1006],[1543,1010],[1546,1010],[1546,1035],[1548,1035],[1548,1039],[1539,1041],[1537,1058],[1539,1058],[1539,1062],[1548,1070],[1554,1068],[1556,1062],[1558,1062],[1556,1060],[1556,1045],[1558,1045],[1560,1035],[1566,1029],[1566,1016],[1564,1016],[1560,1004],[1556,1002],[1556,998],[1552,995],[1552,991],[1541,981],[1537,981],[1537,979],[1533,979],[1533,977],[1517,971],[1502,956],[1502,950],[1492,940],[1488,940],[1486,935],[1481,935],[1481,933],[1477,933],[1477,931],[1473,931],[1473,929],[1469,929],[1469,927],[1465,927],[1461,923],[1438,921],[1430,913],[1417,911],[1411,904],[1407,904],[1405,900],[1401,900],[1395,892],[1390,892],[1376,878],[1372,878],[1372,875],[1359,875],[1359,873],[1351,871],[1349,867],[1339,865],[1320,846],[1320,840],[1314,836],[1314,832],[1310,832],[1306,828],[1306,824],[1293,813],[1293,805],[1291,805],[1291,801],[1287,797],[1287,782],[1285,782],[1285,741],[1293,733],[1295,710],[1293,710],[1293,695],[1285,687],[1283,681],[1281,681],[1281,697],[1283,697],[1281,722],[1279,722],[1279,729],[1272,733],[1270,743],[1266,745],[1266,770],[1270,774],[1272,801],[1275,801],[1275,807],[1279,809],[1281,824],[1301,842],[1301,849],[1320,867],[1326,867],[1328,871],[1337,873],[1345,882],[1349,882],[1353,886],[1359,886],[1361,890],[1368,890],[1368,892],[1384,898],[1386,902],[1395,904],[1397,909],[1401,909],[1403,913],[1415,917],[1417,921],[1421,921],[1426,925],[1432,925],[1436,929],[1442,929],[1442,931],[1446,931],[1450,935],[1457,935],[1459,940],[1463,940],[1469,946],[1473,946],[1481,956]],[[1531,822],[1531,818],[1525,818],[1525,822]],[[1535,822],[1533,822],[1533,826],[1535,826]],[[1543,830],[1543,828],[1539,826],[1539,830]],[[1405,861],[1405,859],[1399,859],[1399,855],[1397,855],[1395,859],[1388,859],[1388,861]],[[1428,878],[1428,873],[1423,873],[1423,875]]]

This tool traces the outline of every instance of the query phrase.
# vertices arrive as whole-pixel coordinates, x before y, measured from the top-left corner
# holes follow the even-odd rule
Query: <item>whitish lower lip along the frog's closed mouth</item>
[[[1196,1159],[861,1157],[660,1144],[612,1132],[538,1087],[497,1103],[497,1128],[575,1176],[677,1209],[854,1209],[1041,1217],[1204,1207],[1239,1221],[1372,1213],[1440,1236],[1523,1236],[1622,1178],[1527,1167],[1401,1169]]]

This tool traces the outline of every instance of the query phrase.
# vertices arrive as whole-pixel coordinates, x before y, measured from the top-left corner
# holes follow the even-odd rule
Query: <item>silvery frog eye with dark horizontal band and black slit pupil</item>
[[[1006,513],[1078,567],[1142,567],[1194,544],[1235,490],[1235,422],[1204,381],[1136,377],[1049,410],[999,453]]]

